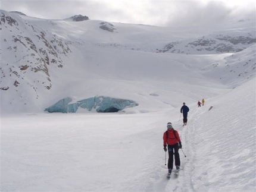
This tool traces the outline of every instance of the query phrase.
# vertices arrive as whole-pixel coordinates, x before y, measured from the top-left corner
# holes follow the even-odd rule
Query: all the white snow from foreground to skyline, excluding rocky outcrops
[[[1,191],[256,190],[255,43],[237,53],[156,53],[152,50],[165,42],[196,33],[117,23],[118,33],[111,33],[99,29],[101,21],[10,16],[57,34],[69,42],[71,52],[59,54],[62,68],[47,65],[52,87],[45,89],[42,72],[10,72],[18,71],[26,63],[23,54],[32,50],[17,49],[11,57],[8,51],[17,44],[8,39],[11,28],[3,27],[7,43],[2,44],[1,86],[10,89],[1,90]],[[26,34],[23,25],[13,33]],[[255,29],[255,23],[243,27],[239,30]],[[20,84],[14,87],[14,80]],[[44,111],[68,96],[118,97],[139,105],[116,113]],[[198,108],[203,98],[205,105]],[[190,108],[185,127],[183,102]],[[167,122],[183,146],[179,177],[169,180],[163,150]]]

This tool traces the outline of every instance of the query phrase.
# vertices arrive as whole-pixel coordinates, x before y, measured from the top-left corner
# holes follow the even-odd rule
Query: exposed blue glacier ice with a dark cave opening
[[[46,108],[45,111],[51,113],[75,113],[79,108],[83,108],[88,111],[96,109],[96,112],[118,112],[124,108],[132,108],[139,105],[133,100],[117,99],[105,96],[91,97],[89,99],[79,100],[75,103],[71,103],[72,101],[73,99],[71,97],[65,97],[54,105],[49,106],[49,108]]]

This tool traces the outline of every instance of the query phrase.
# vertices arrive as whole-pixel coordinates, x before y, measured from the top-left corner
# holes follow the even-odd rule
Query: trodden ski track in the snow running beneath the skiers
[[[195,138],[195,130],[197,118],[202,112],[200,109],[193,109],[189,112],[188,116],[188,124],[183,126],[182,117],[176,124],[179,124],[177,127],[174,127],[177,131],[179,131],[180,137],[182,139],[183,152],[180,149],[180,160],[181,160],[181,169],[179,172],[179,176],[174,175],[174,172],[171,174],[171,178],[167,178],[167,166],[161,166],[161,177],[155,182],[152,187],[152,190],[146,191],[177,191],[177,192],[185,192],[185,191],[195,191],[193,188],[193,178],[191,172],[194,171],[195,166],[195,156],[196,150],[195,145],[193,144],[193,139]],[[190,115],[192,114],[192,115]],[[185,157],[186,155],[186,157]],[[168,153],[167,153],[167,162],[168,162]],[[174,165],[175,162],[173,162]],[[175,171],[175,166],[174,170]],[[157,178],[159,174],[157,175]],[[189,182],[188,182],[189,181]]]

